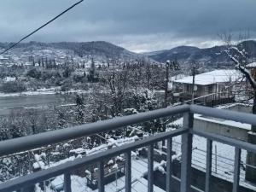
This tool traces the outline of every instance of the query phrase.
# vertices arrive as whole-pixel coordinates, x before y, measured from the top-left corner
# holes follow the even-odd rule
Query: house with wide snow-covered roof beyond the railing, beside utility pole
[[[180,98],[189,100],[192,92],[195,93],[195,101],[212,102],[212,100],[224,100],[233,98],[236,82],[241,79],[242,74],[237,70],[214,70],[207,73],[195,75],[193,87],[193,76],[174,80],[173,90],[179,90]]]

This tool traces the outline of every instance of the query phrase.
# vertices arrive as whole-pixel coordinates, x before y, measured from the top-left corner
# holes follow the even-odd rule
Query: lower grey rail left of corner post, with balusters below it
[[[86,164],[90,165],[95,163],[96,161],[100,161],[102,159],[108,159],[113,157],[114,155],[123,154],[125,152],[134,150],[136,148],[142,148],[151,143],[157,143],[169,137],[176,137],[188,131],[189,131],[188,128],[182,128],[182,129],[177,129],[175,131],[163,132],[153,137],[147,137],[135,143],[126,144],[121,147],[110,148],[98,154],[92,154],[90,156],[84,156],[83,158],[79,158],[73,161],[68,161],[67,163],[61,164],[60,166],[50,167],[49,169],[46,169],[40,172],[34,172],[30,175],[18,177],[13,180],[9,180],[5,183],[0,183],[0,191],[8,192],[8,191],[14,191],[16,189],[21,189],[23,186],[30,186],[34,183],[38,183],[38,182],[47,180],[49,178],[59,176],[65,172],[75,170]]]

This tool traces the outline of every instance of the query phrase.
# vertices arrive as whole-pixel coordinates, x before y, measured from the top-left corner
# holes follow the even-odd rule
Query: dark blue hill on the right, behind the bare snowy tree
[[[256,41],[242,42],[240,45],[247,46],[249,49],[249,58],[252,61],[256,60]],[[159,50],[150,53],[145,53],[149,58],[154,61],[166,62],[166,60],[182,61],[183,63],[204,62],[207,65],[233,65],[227,55],[224,53],[226,46],[215,46],[207,49],[200,49],[191,46],[180,46],[168,50]]]

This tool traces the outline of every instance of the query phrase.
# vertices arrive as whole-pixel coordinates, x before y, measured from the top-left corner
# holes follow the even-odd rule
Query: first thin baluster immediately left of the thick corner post
[[[166,191],[172,192],[172,138],[167,139]]]

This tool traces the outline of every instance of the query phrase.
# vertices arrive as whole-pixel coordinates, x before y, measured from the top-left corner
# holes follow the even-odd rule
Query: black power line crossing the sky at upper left
[[[49,20],[48,22],[46,22],[43,26],[38,27],[36,30],[34,30],[33,32],[29,33],[28,35],[26,35],[26,37],[21,38],[20,41],[18,41],[17,43],[11,45],[8,49],[3,50],[3,52],[0,53],[0,55],[3,55],[4,53],[6,53],[7,51],[9,51],[9,49],[14,48],[17,44],[20,44],[21,41],[25,40],[26,38],[29,38],[30,36],[32,36],[32,34],[34,34],[35,32],[38,32],[40,29],[44,28],[44,26],[48,26],[49,23],[51,23],[52,21],[56,20],[57,18],[59,18],[61,15],[64,15],[65,13],[67,13],[67,11],[69,11],[70,9],[73,9],[75,6],[77,6],[79,3],[82,3],[84,0],[80,0],[78,3],[74,3],[71,7],[69,7],[68,9],[64,10],[61,12],[61,14],[56,15],[53,19]]]

